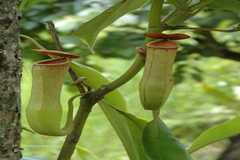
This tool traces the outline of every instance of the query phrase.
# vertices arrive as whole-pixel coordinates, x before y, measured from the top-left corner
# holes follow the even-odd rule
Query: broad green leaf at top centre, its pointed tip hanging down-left
[[[141,7],[148,0],[121,0],[100,15],[82,24],[75,32],[89,47],[93,47],[98,33],[126,13]]]

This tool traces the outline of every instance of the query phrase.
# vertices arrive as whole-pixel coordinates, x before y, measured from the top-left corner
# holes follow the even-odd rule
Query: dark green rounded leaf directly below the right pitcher
[[[192,159],[160,119],[149,122],[144,128],[143,145],[153,160]]]

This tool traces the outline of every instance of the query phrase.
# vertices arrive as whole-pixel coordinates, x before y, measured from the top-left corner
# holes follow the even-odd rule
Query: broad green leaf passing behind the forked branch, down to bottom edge
[[[71,68],[78,76],[85,77],[85,83],[93,89],[108,83],[101,73],[90,67],[72,63]],[[142,144],[142,132],[146,122],[122,112],[126,104],[121,94],[115,90],[106,95],[99,105],[121,139],[130,160],[152,160],[144,152]]]

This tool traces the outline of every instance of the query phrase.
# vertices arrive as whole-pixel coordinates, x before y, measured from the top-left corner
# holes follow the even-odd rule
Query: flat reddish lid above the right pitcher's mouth
[[[175,34],[164,34],[164,33],[146,33],[145,37],[153,39],[167,39],[167,40],[183,40],[190,38],[189,35],[175,33]]]

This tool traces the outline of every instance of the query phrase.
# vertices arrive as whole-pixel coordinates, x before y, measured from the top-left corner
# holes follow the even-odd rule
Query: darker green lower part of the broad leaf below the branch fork
[[[116,107],[104,101],[101,101],[99,105],[121,139],[130,160],[155,160],[144,152],[142,144],[142,132],[146,124],[144,120],[116,110]]]

